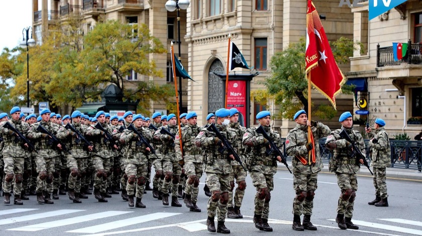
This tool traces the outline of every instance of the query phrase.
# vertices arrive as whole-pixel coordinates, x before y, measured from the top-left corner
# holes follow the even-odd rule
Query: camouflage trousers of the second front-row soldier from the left
[[[46,191],[51,194],[53,192],[53,173],[55,161],[56,158],[35,157],[38,172],[37,193]],[[47,177],[44,180],[40,179],[41,172],[47,173]]]

